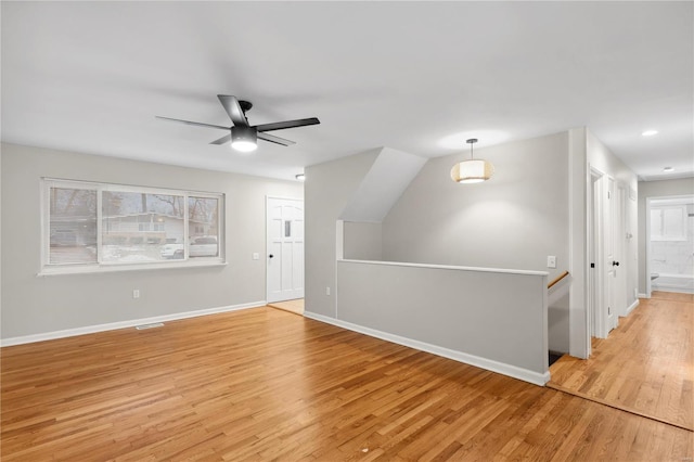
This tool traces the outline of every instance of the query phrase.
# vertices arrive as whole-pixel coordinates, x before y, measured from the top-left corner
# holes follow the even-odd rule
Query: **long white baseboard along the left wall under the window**
[[[97,332],[114,331],[116,329],[134,328],[136,325],[152,324],[155,322],[176,321],[179,319],[195,318],[198,316],[217,315],[220,312],[237,311],[267,305],[265,300],[249,304],[230,305],[226,307],[207,308],[195,311],[176,312],[172,315],[155,316],[152,318],[130,319],[127,321],[110,322],[107,324],[87,325],[83,328],[67,329],[64,331],[46,332],[42,334],[24,335],[0,339],[0,347],[30,344],[35,342],[52,341],[55,338],[74,337],[76,335],[93,334]]]

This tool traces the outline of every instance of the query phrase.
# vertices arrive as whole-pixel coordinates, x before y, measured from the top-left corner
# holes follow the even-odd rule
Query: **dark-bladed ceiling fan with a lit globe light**
[[[272,124],[249,125],[246,118],[246,112],[253,107],[249,101],[239,100],[236,97],[230,97],[226,94],[218,94],[219,102],[229,114],[232,126],[223,127],[221,125],[203,124],[200,121],[181,120],[178,118],[155,116],[162,120],[178,121],[187,125],[195,125],[197,127],[219,128],[221,130],[230,130],[229,134],[224,134],[218,140],[210,142],[209,144],[224,144],[231,141],[231,147],[241,152],[255,151],[258,147],[257,140],[265,140],[275,144],[282,144],[283,146],[290,146],[296,144],[294,141],[285,140],[284,138],[275,137],[267,133],[272,130],[283,130],[285,128],[304,127],[307,125],[317,125],[321,121],[316,117],[301,118],[296,120],[275,121]]]

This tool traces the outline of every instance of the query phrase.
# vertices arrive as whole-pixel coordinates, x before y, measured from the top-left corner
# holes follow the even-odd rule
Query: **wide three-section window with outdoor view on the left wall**
[[[223,195],[44,179],[43,269],[221,262]]]

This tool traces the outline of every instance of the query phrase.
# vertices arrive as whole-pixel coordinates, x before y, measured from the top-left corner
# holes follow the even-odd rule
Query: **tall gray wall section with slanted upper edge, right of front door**
[[[306,311],[335,318],[336,221],[380,152],[369,151],[305,170]]]

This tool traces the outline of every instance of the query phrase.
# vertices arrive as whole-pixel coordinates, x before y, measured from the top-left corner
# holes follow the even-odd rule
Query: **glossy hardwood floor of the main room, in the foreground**
[[[691,461],[692,432],[281,310],[0,350],[10,461]]]

